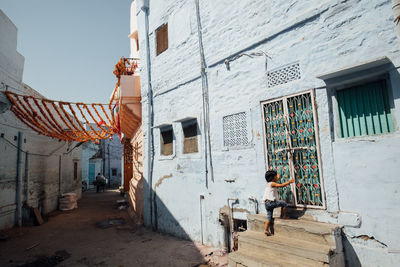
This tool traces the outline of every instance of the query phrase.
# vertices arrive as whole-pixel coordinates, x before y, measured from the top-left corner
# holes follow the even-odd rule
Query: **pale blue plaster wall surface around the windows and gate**
[[[235,5],[230,1],[200,1],[214,166],[214,181],[209,181],[207,188],[202,147],[200,57],[194,10],[194,1],[150,1],[149,48],[145,43],[145,15],[140,6],[137,10],[140,56],[145,59],[147,49],[151,55],[154,125],[172,124],[175,134],[174,156],[166,158],[160,156],[160,133],[154,129],[155,160],[151,188],[156,192],[159,230],[197,241],[203,235],[205,243],[223,246],[223,228],[218,218],[220,208],[227,205],[227,198],[238,198],[236,208],[254,212],[254,205],[248,197],[254,195],[260,200],[262,196],[265,155],[260,101],[325,86],[317,78],[319,75],[379,57],[386,56],[394,66],[398,66],[399,47],[391,1],[387,0],[241,1]],[[166,22],[169,48],[156,56],[155,30]],[[271,57],[268,70],[299,62],[301,79],[267,88],[263,57],[243,56],[230,64],[230,71],[226,69],[224,60],[227,57],[260,50]],[[147,63],[145,60],[141,63],[143,125],[147,125]],[[398,72],[392,72],[393,113],[397,121],[400,83]],[[373,143],[362,138],[338,140],[329,99],[326,89],[316,90],[327,210],[311,213],[317,220],[347,225],[345,230],[349,243],[346,256],[349,264],[375,266],[378,261],[381,265],[390,265],[399,260],[399,254],[389,253],[396,252],[400,244],[396,240],[398,230],[394,223],[399,213],[394,200],[400,183],[396,175],[399,129],[396,127],[396,132],[388,136],[373,137]],[[221,134],[222,117],[243,111],[249,116],[251,142],[242,149],[226,150]],[[188,116],[197,117],[201,126],[199,153],[189,156],[182,154],[182,127],[180,122],[176,122]],[[143,127],[143,131],[146,156],[147,127]],[[361,156],[354,159],[358,154]],[[346,160],[350,155],[354,160],[351,164]],[[145,158],[144,177],[147,182],[148,164]],[[382,172],[379,171],[381,168],[384,169]],[[380,173],[384,178],[377,178],[381,177]],[[383,185],[372,186],[375,180],[381,180]],[[147,225],[151,221],[150,190],[145,187],[144,219]],[[200,195],[204,195],[204,200],[200,200]],[[202,217],[201,209],[204,211]],[[260,209],[263,212],[263,208]],[[234,217],[245,218],[245,213],[236,212]],[[359,242],[359,238],[352,238],[360,235],[374,236],[387,247],[376,246],[372,239]],[[376,261],[371,261],[370,251],[374,252]]]

